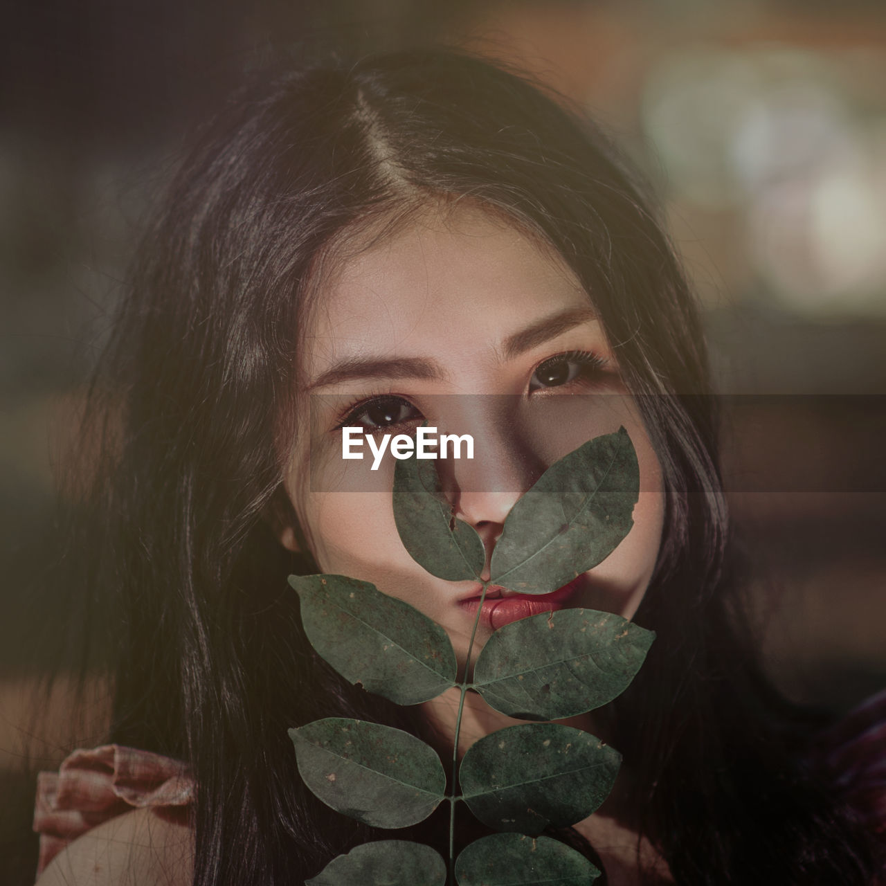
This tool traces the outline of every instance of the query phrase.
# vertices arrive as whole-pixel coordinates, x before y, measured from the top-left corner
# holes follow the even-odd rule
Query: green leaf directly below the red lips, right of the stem
[[[542,612],[490,636],[473,687],[509,717],[574,717],[624,692],[654,639],[652,631],[610,612]]]

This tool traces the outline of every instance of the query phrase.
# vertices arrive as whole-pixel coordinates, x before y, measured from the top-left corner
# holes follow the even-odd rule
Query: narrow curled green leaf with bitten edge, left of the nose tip
[[[393,517],[400,540],[416,563],[447,581],[477,579],[486,550],[473,526],[453,515],[435,462],[415,455],[393,472]]]

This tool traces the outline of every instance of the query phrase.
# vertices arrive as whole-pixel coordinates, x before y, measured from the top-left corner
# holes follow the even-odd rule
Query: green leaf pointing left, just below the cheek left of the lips
[[[368,581],[291,575],[307,639],[346,680],[397,704],[417,704],[455,685],[446,631]]]

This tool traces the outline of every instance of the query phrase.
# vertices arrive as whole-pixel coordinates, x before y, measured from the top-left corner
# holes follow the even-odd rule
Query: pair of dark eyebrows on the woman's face
[[[551,338],[563,335],[563,332],[568,332],[581,323],[588,323],[596,318],[594,310],[589,306],[570,307],[558,311],[505,338],[501,347],[501,358],[504,361],[513,360],[519,354],[531,351],[532,348],[543,345]],[[428,357],[348,357],[322,372],[310,385],[307,385],[307,391],[369,378],[414,378],[421,381],[445,382],[447,373],[437,361]]]

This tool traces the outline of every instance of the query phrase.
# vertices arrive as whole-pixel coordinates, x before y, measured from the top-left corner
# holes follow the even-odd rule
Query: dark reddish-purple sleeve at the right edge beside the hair
[[[868,828],[886,835],[886,690],[821,734],[812,759]]]

